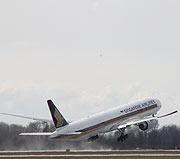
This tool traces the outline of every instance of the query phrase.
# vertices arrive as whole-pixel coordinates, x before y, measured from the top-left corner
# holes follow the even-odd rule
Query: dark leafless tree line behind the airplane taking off
[[[180,149],[180,127],[163,126],[149,132],[130,133],[127,140],[118,142],[116,133],[102,135],[94,142],[64,142],[45,136],[19,136],[22,132],[51,132],[54,126],[32,122],[27,126],[0,123],[0,151],[15,150],[124,150],[124,149]]]

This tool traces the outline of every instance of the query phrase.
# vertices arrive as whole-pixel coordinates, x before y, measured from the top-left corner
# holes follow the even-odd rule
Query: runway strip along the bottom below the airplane
[[[22,158],[22,159],[180,159],[180,151],[171,150],[146,150],[146,151],[2,151],[0,158]]]

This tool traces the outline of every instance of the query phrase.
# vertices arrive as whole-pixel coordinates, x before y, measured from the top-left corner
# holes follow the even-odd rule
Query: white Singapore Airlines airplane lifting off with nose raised
[[[117,140],[123,142],[128,138],[128,134],[125,134],[126,130],[132,126],[135,126],[142,131],[148,131],[150,128],[154,128],[157,125],[157,119],[178,112],[176,110],[165,115],[156,116],[161,108],[160,100],[156,98],[145,98],[123,106],[111,108],[77,121],[67,122],[52,100],[48,100],[47,103],[56,130],[54,132],[20,133],[19,135],[48,136],[50,139],[60,139],[65,141],[94,141],[98,139],[101,134],[118,131],[120,135]],[[1,114],[41,122],[50,122],[50,120],[46,119],[25,117],[8,113]]]

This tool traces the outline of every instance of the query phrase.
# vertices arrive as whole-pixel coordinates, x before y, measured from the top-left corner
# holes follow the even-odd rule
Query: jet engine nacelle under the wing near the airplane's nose
[[[139,126],[139,129],[141,129],[142,131],[149,131],[153,128],[156,128],[157,125],[158,125],[158,120],[153,119],[150,121],[144,121],[140,123],[138,126]]]

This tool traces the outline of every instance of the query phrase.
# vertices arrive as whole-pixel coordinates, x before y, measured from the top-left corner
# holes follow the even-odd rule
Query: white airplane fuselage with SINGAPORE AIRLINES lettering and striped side
[[[50,138],[72,141],[88,139],[100,133],[117,130],[118,126],[131,120],[154,115],[160,108],[158,99],[146,98],[69,123],[56,129]]]

